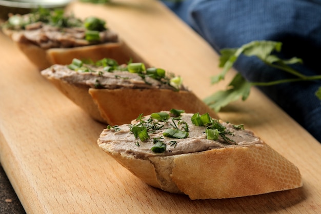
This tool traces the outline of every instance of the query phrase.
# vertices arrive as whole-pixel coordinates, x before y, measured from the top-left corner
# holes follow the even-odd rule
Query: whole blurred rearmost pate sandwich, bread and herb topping
[[[39,8],[32,13],[10,14],[2,31],[40,70],[72,59],[99,60],[110,57],[118,63],[143,62],[132,49],[97,17],[80,20],[62,9]]]

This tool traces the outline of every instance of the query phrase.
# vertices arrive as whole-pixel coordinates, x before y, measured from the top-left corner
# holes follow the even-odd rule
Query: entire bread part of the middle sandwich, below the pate
[[[171,108],[186,109],[186,112],[210,112],[213,118],[218,118],[217,114],[191,91],[94,89],[49,76],[47,79],[91,118],[112,126],[130,123],[143,112],[149,114]]]

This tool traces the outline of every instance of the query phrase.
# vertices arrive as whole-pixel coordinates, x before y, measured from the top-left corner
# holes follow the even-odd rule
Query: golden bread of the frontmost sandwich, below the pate
[[[137,159],[99,147],[147,184],[190,199],[253,196],[303,185],[298,168],[266,143]]]

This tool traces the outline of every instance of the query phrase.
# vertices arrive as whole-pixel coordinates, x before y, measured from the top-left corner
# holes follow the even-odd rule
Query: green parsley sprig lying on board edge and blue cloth
[[[256,56],[266,65],[292,74],[293,78],[271,82],[249,82],[240,73],[237,73],[229,83],[226,90],[213,93],[204,99],[204,102],[218,112],[220,108],[240,98],[245,101],[250,94],[250,89],[252,86],[271,86],[289,82],[321,80],[321,75],[307,76],[290,67],[292,64],[303,63],[302,59],[292,57],[289,60],[283,60],[273,54],[274,51],[280,52],[281,48],[282,43],[280,42],[253,41],[243,45],[240,48],[222,49],[220,51],[221,55],[219,59],[219,67],[223,67],[223,71],[212,77],[212,84],[224,80],[226,73],[230,70],[230,68],[232,68],[233,64],[241,54],[246,56]],[[318,88],[318,90],[315,92],[315,95],[319,100],[321,100],[321,87]]]

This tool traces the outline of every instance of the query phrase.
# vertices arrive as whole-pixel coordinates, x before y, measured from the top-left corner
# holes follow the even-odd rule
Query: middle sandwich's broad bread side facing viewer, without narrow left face
[[[141,113],[175,109],[185,112],[209,112],[213,118],[217,114],[197,96],[186,90],[170,89],[89,89],[102,118],[110,125],[130,123]]]

